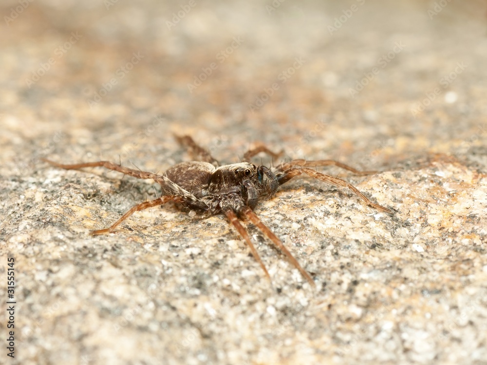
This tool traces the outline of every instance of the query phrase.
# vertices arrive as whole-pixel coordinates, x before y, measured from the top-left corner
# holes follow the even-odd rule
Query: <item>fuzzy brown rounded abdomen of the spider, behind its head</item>
[[[194,196],[201,197],[213,171],[215,166],[210,163],[190,161],[172,166],[166,171],[166,176]]]

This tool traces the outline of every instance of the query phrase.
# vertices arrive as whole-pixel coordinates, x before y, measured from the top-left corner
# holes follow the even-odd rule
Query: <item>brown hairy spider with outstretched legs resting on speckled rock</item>
[[[292,178],[306,174],[325,183],[348,187],[367,205],[386,213],[393,213],[392,210],[372,202],[352,184],[337,177],[319,173],[310,167],[335,165],[357,175],[366,175],[374,171],[358,171],[335,160],[292,160],[272,168],[252,164],[251,158],[260,152],[267,153],[274,158],[280,156],[281,153],[274,153],[265,146],[258,146],[248,150],[244,154],[242,162],[238,164],[221,165],[206,149],[198,146],[190,136],[175,137],[181,145],[188,148],[195,161],[176,164],[162,175],[123,167],[121,164],[114,164],[109,161],[80,164],[58,164],[47,159],[43,159],[43,161],[67,170],[83,167],[105,167],[137,179],[153,179],[161,185],[161,197],[133,206],[110,227],[92,231],[93,235],[112,233],[120,223],[133,213],[162,205],[169,201],[175,201],[183,207],[200,214],[203,218],[224,214],[244,238],[250,252],[262,267],[269,281],[271,280],[270,275],[239,219],[246,218],[250,220],[288,258],[303,277],[312,286],[315,286],[313,278],[301,267],[296,258],[282,244],[281,240],[262,223],[261,219],[253,211],[260,200],[272,198],[279,187]]]

